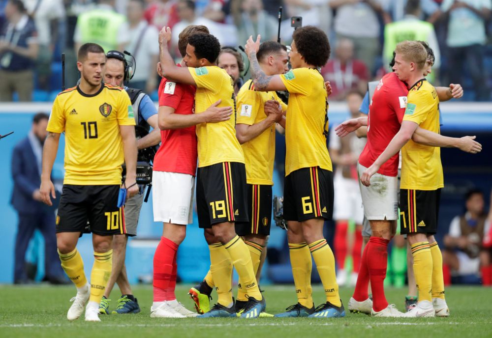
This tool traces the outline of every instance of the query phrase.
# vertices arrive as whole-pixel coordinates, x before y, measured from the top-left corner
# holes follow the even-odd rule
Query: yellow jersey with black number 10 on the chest
[[[101,84],[95,94],[78,86],[58,94],[46,130],[65,132],[63,184],[121,184],[124,162],[120,125],[135,125],[123,88]]]

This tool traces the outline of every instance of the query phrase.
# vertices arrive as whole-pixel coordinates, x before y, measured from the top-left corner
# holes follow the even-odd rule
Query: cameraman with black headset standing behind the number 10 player
[[[131,78],[128,64],[124,55],[118,51],[109,51],[106,54],[106,72],[104,82],[106,84],[122,87],[123,81]],[[138,158],[137,162],[150,163],[154,158],[152,151],[154,146],[160,142],[160,129],[157,126],[157,110],[149,95],[139,89],[124,86],[130,97],[133,111],[135,112],[135,136],[137,137]],[[150,127],[153,128],[151,132]],[[145,186],[140,186],[139,194],[128,198],[124,208],[124,219],[126,234],[115,235],[113,237],[113,270],[106,286],[104,296],[99,305],[100,314],[109,314],[109,295],[115,282],[122,292],[118,305],[113,313],[138,313],[140,307],[137,299],[133,296],[126,268],[124,265],[127,236],[136,236],[137,223],[140,216],[140,209],[144,199]]]

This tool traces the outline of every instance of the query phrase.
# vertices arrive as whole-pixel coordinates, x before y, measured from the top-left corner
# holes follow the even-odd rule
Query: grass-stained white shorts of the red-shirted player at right
[[[359,177],[367,168],[357,163]],[[369,221],[398,220],[398,178],[375,173],[366,187],[359,180],[364,213]]]

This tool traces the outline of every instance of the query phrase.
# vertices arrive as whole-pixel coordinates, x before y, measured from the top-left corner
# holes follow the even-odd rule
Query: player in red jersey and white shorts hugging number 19
[[[188,37],[197,32],[208,33],[208,28],[190,25],[181,32],[179,49],[183,57]],[[194,114],[195,91],[196,88],[192,85],[171,82],[165,78],[159,85],[158,123],[162,143],[154,157],[152,196],[154,221],[163,222],[163,230],[154,254],[153,318],[197,315],[185,309],[176,300],[174,293],[176,253],[186,235],[185,225],[192,223],[197,165],[195,125],[226,121],[232,114],[232,107],[217,108],[218,101],[206,112]]]

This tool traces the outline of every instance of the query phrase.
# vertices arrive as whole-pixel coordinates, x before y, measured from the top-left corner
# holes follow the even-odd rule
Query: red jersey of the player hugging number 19
[[[159,107],[175,109],[175,114],[192,114],[196,88],[163,78],[159,84]],[[154,157],[154,170],[195,176],[197,140],[195,126],[160,131],[161,145]]]

